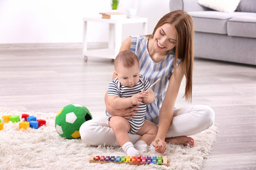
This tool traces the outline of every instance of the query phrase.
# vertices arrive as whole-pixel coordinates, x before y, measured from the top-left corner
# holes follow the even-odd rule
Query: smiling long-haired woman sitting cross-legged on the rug
[[[152,142],[156,152],[166,152],[167,143],[194,145],[189,135],[206,130],[213,124],[215,113],[208,106],[184,106],[175,108],[176,98],[185,75],[185,98],[192,100],[193,73],[193,19],[186,11],[167,13],[156,24],[151,35],[131,36],[124,40],[120,51],[130,50],[137,55],[140,74],[150,84],[161,79],[152,90],[153,103],[147,105],[146,119],[158,125],[157,135]],[[113,74],[113,79],[115,74]],[[114,109],[105,96],[107,113],[130,119],[137,112],[133,108]],[[89,145],[118,145],[114,131],[107,118],[90,120],[80,128],[81,139]],[[131,142],[139,135],[129,134]]]

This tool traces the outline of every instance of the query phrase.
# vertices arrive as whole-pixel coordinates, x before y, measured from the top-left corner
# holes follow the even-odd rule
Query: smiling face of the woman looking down
[[[177,32],[170,23],[164,23],[154,33],[154,47],[158,51],[169,51],[176,46]]]

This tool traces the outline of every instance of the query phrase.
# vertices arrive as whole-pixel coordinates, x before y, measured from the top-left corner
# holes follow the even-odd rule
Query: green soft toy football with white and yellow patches
[[[79,138],[82,123],[91,120],[92,115],[85,106],[70,104],[65,106],[55,118],[55,129],[61,137],[68,139]]]

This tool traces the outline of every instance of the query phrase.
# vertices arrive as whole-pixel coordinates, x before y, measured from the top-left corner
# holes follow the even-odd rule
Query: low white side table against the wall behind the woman
[[[109,23],[109,43],[106,49],[87,50],[87,23],[88,22]],[[87,61],[87,57],[103,57],[114,59],[119,48],[122,45],[122,25],[128,23],[142,23],[143,34],[146,35],[147,18],[122,18],[122,19],[106,19],[106,18],[84,18],[84,37],[82,55]]]

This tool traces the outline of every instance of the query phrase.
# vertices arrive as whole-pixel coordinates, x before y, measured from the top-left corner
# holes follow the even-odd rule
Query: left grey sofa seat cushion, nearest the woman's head
[[[228,34],[227,21],[235,16],[243,16],[247,13],[224,13],[219,11],[191,11],[195,31],[203,33]]]

